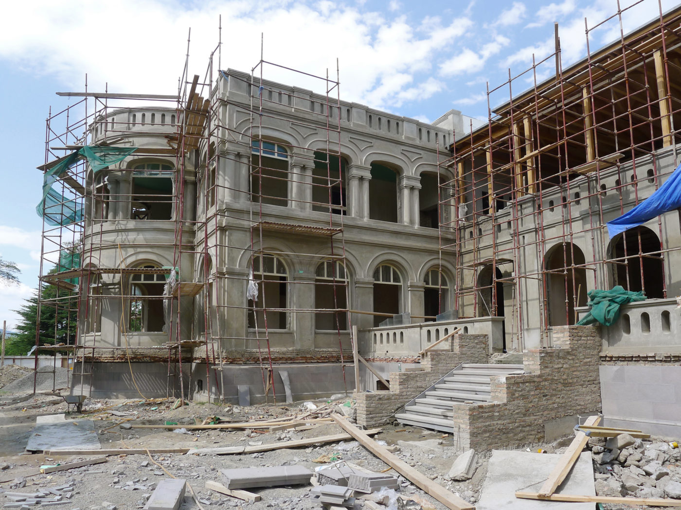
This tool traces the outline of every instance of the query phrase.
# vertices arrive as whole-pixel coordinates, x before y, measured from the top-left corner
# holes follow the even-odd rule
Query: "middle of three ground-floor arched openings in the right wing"
[[[586,305],[584,253],[573,243],[554,245],[544,257],[549,326],[575,324],[575,306]],[[575,267],[579,266],[579,267]]]

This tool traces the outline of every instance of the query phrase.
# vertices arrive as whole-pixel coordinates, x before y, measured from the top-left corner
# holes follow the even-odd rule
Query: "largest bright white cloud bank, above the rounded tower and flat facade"
[[[411,80],[402,80],[405,87],[426,82],[434,52],[451,45],[472,24],[468,18],[449,18],[449,24],[435,22],[424,32],[420,18],[364,9],[357,3],[281,0],[218,0],[192,9],[161,0],[15,2],[3,12],[13,22],[0,31],[0,58],[57,78],[60,87],[72,90],[82,89],[88,72],[90,90],[104,89],[108,81],[110,91],[172,94],[185,61],[189,27],[189,75],[204,76],[223,14],[221,67],[249,71],[259,60],[264,33],[266,60],[317,75],[329,69],[333,78],[337,56],[343,98],[381,108],[392,105],[400,92],[392,86],[394,80],[407,74]],[[93,27],[102,20],[108,28],[95,33]],[[108,50],[102,53],[102,48]],[[272,66],[265,67],[264,77],[321,92],[325,88],[320,80]]]

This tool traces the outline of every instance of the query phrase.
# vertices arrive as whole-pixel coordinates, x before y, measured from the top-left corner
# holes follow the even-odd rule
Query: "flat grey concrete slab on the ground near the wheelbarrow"
[[[101,445],[92,420],[65,420],[63,414],[57,414],[37,417],[26,449],[101,449]]]

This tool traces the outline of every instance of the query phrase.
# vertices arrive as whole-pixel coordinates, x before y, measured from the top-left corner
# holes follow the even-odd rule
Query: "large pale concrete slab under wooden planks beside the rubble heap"
[[[593,510],[593,503],[564,503],[516,498],[516,490],[537,492],[560,459],[558,454],[494,450],[488,464],[477,510]],[[595,496],[590,452],[583,452],[558,494]]]

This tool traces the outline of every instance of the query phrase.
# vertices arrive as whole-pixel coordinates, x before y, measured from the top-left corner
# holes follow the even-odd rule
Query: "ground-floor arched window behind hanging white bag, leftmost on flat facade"
[[[249,299],[249,328],[286,329],[288,271],[281,259],[272,254],[253,256],[253,279],[257,282],[258,298]]]

